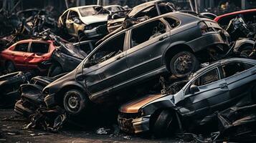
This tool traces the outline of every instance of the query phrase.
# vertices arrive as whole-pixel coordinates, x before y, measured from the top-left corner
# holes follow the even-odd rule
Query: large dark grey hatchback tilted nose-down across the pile
[[[67,113],[81,114],[90,101],[113,104],[131,98],[123,89],[136,91],[143,84],[150,88],[150,81],[161,74],[186,77],[204,58],[211,60],[208,49],[227,46],[216,29],[221,28],[210,19],[181,12],[131,26],[110,36],[76,69],[47,85],[44,102],[49,108],[63,104]]]

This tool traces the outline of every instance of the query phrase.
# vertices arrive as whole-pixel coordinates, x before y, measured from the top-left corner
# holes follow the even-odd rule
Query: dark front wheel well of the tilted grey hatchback
[[[56,101],[57,103],[61,106],[63,106],[63,98],[64,98],[64,94],[69,91],[70,89],[77,89],[80,90],[81,92],[85,93],[85,90],[82,89],[81,87],[75,86],[75,85],[67,85],[65,87],[62,87],[62,89],[60,89],[59,92],[57,92],[57,96],[56,96]]]

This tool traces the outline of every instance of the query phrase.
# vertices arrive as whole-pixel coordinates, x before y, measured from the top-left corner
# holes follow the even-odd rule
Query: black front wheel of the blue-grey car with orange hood
[[[168,110],[163,110],[156,118],[156,122],[153,124],[153,134],[156,137],[163,137],[169,131],[170,127],[174,125],[173,123],[173,114]]]

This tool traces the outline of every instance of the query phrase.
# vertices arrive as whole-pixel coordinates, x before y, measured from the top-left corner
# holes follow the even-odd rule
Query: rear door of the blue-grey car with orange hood
[[[230,99],[227,101],[227,106],[237,104],[241,99],[251,95],[250,84],[252,82],[253,66],[241,61],[232,61],[219,67],[230,91]],[[243,103],[246,104],[246,102]]]

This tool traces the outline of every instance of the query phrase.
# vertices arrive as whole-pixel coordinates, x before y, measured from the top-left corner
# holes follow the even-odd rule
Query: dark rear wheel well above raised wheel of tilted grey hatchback
[[[190,46],[186,44],[178,44],[175,46],[171,46],[164,56],[164,64],[166,64],[167,69],[170,71],[170,65],[168,64],[171,60],[171,57],[173,57],[175,54],[177,54],[180,51],[190,51],[191,53],[194,53],[194,51],[191,49]]]

